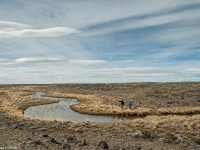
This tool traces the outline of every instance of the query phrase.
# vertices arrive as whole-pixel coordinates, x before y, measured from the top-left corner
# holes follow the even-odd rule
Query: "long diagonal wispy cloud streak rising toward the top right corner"
[[[140,14],[138,16],[133,15],[125,18],[117,18],[115,20],[87,26],[83,28],[83,30],[87,31],[86,35],[94,36],[99,34],[119,32],[123,30],[136,30],[146,27],[155,27],[170,23],[177,23],[183,20],[191,20],[198,17],[198,15],[194,14],[196,14],[195,12],[198,12],[199,8],[200,4],[179,6],[173,9],[169,9],[166,7],[163,8],[164,10],[160,10],[160,12],[154,11],[149,14]]]

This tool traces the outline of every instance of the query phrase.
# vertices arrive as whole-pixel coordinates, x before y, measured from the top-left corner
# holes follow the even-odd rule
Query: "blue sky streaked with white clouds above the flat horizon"
[[[0,0],[0,84],[193,81],[199,0]]]

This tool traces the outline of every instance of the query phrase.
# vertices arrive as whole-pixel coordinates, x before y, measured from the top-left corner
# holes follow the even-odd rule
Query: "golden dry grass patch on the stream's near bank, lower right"
[[[157,134],[164,137],[166,142],[199,142],[200,115],[194,116],[147,116],[144,119],[135,119],[132,128]]]

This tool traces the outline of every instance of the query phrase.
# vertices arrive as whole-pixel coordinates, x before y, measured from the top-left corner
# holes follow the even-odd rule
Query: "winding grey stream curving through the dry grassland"
[[[105,115],[88,115],[81,114],[73,111],[69,106],[79,103],[76,99],[69,98],[55,98],[55,97],[43,97],[45,93],[37,92],[30,95],[31,98],[44,98],[58,100],[58,103],[45,104],[39,106],[28,107],[24,111],[26,117],[32,119],[50,119],[59,121],[72,121],[72,122],[128,122],[133,117],[117,117],[117,116],[105,116]]]

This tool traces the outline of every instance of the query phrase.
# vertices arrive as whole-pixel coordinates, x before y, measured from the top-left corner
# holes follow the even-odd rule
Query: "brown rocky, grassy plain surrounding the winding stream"
[[[75,110],[80,108],[85,113],[101,114],[100,109],[107,109],[105,105],[113,107],[110,107],[112,113],[127,113],[128,108],[121,110],[117,101],[132,97],[135,109],[131,111],[137,112],[132,115],[141,114],[141,108],[153,112],[162,108],[162,113],[184,108],[184,113],[180,113],[183,109],[177,109],[172,114],[178,116],[155,113],[129,123],[72,123],[24,118],[22,112],[28,106],[49,103],[25,97],[39,91],[51,96],[76,97],[82,104]],[[84,107],[85,103],[91,104],[90,107],[95,104],[95,109],[89,110],[90,107]],[[97,104],[101,108],[96,107]],[[200,83],[2,85],[0,149],[198,150],[199,106]]]

